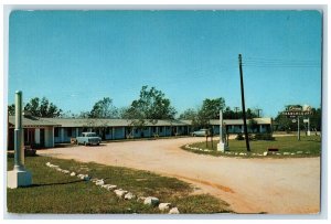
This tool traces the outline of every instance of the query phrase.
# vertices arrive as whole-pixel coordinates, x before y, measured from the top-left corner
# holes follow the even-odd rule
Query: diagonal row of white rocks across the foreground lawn
[[[126,191],[126,190],[122,190],[122,189],[117,189],[117,185],[114,185],[114,184],[106,184],[104,179],[97,179],[97,178],[92,179],[88,174],[83,174],[83,173],[77,174],[75,171],[61,169],[60,166],[52,164],[51,162],[46,162],[46,166],[51,169],[54,169],[54,170],[58,171],[58,172],[62,172],[64,174],[68,174],[70,177],[76,177],[76,178],[78,178],[81,180],[84,180],[84,181],[90,181],[97,186],[100,186],[103,189],[106,189],[107,191],[114,192],[118,198],[120,198],[122,200],[137,199],[137,196],[134,193],[129,192],[129,191]],[[139,196],[137,199],[137,202],[140,202],[142,204],[147,204],[147,205],[150,205],[150,206],[158,206],[160,212],[169,211],[168,214],[180,214],[178,207],[172,206],[171,203],[167,203],[167,202],[160,203],[160,200],[156,196]]]

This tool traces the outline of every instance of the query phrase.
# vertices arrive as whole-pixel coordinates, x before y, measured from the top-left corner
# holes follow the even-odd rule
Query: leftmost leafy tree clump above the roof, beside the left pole
[[[35,117],[60,117],[62,115],[62,109],[50,103],[46,97],[43,97],[42,100],[39,97],[31,98],[24,110]]]

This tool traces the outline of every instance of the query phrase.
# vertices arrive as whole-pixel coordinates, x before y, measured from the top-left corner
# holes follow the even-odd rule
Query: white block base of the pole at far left
[[[32,184],[32,175],[28,170],[11,170],[7,172],[7,186],[17,189]]]

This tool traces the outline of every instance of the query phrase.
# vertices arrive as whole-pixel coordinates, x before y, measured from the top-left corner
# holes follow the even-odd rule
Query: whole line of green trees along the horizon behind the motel
[[[288,107],[289,105],[286,105]],[[113,104],[110,97],[104,97],[94,104],[90,110],[81,111],[79,114],[73,114],[71,111],[64,113],[56,105],[51,103],[46,97],[34,97],[25,104],[24,110],[29,111],[34,117],[61,117],[61,118],[121,118],[131,120],[132,127],[143,128],[147,121],[157,124],[158,120],[188,119],[192,120],[192,125],[196,128],[210,128],[210,121],[212,119],[220,119],[220,110],[223,111],[224,119],[242,119],[243,111],[238,108],[232,109],[226,106],[223,97],[218,98],[205,98],[201,106],[196,108],[188,108],[181,113],[178,117],[178,111],[171,105],[169,98],[158,90],[156,87],[142,86],[139,93],[139,97],[127,107],[117,108]],[[247,119],[257,118],[258,109],[246,109]],[[259,109],[260,110],[260,109]],[[321,128],[321,108],[312,108],[313,114],[307,116],[310,118],[311,128],[320,130]],[[14,115],[14,104],[8,106],[8,114]],[[280,113],[274,119],[277,126],[276,130],[296,130],[296,124],[291,119],[281,115]],[[301,122],[302,124],[302,122]],[[255,128],[256,124],[249,124]],[[305,124],[301,125],[305,128]]]

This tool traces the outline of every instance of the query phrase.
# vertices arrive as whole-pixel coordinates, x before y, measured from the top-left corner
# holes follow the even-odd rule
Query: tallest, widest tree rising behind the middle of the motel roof
[[[147,125],[147,120],[152,124],[157,124],[158,119],[173,120],[177,111],[161,90],[142,86],[139,98],[135,99],[121,114],[122,118],[132,119],[132,126],[142,128]]]

